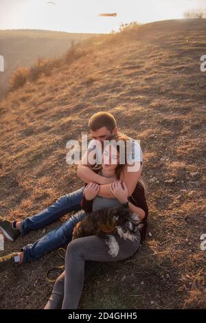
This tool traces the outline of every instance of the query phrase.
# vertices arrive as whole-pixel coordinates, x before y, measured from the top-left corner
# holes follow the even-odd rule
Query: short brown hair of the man
[[[98,131],[102,126],[106,126],[106,129],[113,133],[117,123],[115,117],[111,113],[101,111],[91,116],[88,126],[91,131]]]

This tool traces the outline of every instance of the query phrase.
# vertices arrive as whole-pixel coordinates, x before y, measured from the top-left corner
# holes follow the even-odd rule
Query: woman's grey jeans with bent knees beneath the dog
[[[52,296],[45,309],[77,309],[84,279],[94,268],[93,262],[98,265],[98,262],[122,260],[133,256],[139,247],[140,233],[137,241],[124,240],[118,234],[115,234],[115,238],[119,244],[119,253],[116,257],[108,254],[108,246],[104,238],[99,236],[77,238],[69,243],[65,258],[65,271],[56,280]]]

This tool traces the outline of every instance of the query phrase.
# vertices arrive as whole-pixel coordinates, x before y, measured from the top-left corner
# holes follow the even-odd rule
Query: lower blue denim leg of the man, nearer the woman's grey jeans
[[[87,215],[88,214],[84,210],[80,210],[72,215],[68,221],[60,225],[60,227],[48,232],[35,243],[25,245],[25,247],[21,249],[21,251],[23,251],[23,263],[41,258],[48,252],[52,252],[52,250],[58,249],[66,243],[69,243],[72,238],[73,228]]]

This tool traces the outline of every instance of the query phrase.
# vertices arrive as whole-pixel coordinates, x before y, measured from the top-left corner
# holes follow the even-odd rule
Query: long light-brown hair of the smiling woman
[[[124,135],[124,133],[116,133],[114,135],[109,135],[105,138],[105,140],[107,140],[108,142],[107,144],[111,144],[115,146],[115,148],[117,148],[117,151],[119,153],[119,157],[120,154],[124,151],[124,156],[125,156],[125,164],[127,163],[127,155],[128,153],[131,154],[132,153],[132,143],[130,138],[127,135]],[[104,145],[104,146],[103,146]],[[126,149],[126,145],[128,146],[128,151]],[[104,149],[106,146],[104,144],[104,142],[102,142],[102,148]],[[115,175],[117,176],[117,179],[120,178],[120,174],[124,168],[125,164],[118,164],[117,167],[115,168]],[[144,188],[144,190],[146,190],[146,184],[144,183],[144,180],[142,179],[142,177],[139,178],[138,183],[141,184],[141,186]]]

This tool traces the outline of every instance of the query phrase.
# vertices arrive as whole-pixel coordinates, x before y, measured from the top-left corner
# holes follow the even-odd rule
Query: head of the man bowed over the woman
[[[91,136],[103,142],[108,135],[117,133],[117,123],[115,117],[108,112],[98,112],[89,119],[89,130]]]

